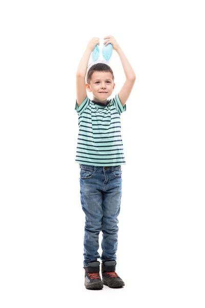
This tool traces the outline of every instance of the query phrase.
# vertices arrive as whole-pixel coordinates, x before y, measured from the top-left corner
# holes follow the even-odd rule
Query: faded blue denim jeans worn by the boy
[[[80,200],[86,215],[84,267],[97,258],[116,260],[121,182],[121,166],[80,165]],[[98,253],[100,231],[103,233],[101,257]]]

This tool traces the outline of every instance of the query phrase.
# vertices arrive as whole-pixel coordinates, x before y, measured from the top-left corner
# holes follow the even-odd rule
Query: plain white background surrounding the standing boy
[[[1,2],[2,308],[204,308],[202,5]],[[87,291],[75,72],[88,41],[110,34],[137,76],[121,115],[117,273],[126,286]],[[110,65],[118,92],[117,53]]]

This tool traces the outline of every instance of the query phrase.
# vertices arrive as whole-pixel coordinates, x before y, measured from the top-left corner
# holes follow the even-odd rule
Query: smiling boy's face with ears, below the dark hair
[[[93,101],[105,104],[114,87],[111,72],[96,71],[91,76],[90,84],[86,84],[87,90],[93,93]]]

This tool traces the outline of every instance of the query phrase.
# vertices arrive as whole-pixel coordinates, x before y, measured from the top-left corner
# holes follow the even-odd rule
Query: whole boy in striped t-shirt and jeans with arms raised
[[[120,114],[126,110],[135,83],[135,72],[112,35],[104,44],[113,45],[125,71],[126,81],[111,100],[114,90],[113,71],[107,64],[90,67],[85,77],[91,52],[99,45],[93,37],[84,52],[76,73],[79,134],[76,162],[80,165],[80,200],[86,215],[84,237],[85,286],[100,290],[103,284],[122,287],[124,281],[116,274],[118,214],[121,200],[121,165],[125,164],[120,132]],[[87,97],[92,92],[93,100]],[[98,254],[98,236],[103,232],[102,255]],[[99,275],[100,258],[102,281]]]

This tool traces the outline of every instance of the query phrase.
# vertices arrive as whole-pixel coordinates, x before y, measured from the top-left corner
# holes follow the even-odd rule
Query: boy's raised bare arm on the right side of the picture
[[[123,67],[125,75],[126,75],[126,81],[125,81],[124,85],[122,86],[121,90],[118,93],[120,102],[121,102],[122,106],[124,106],[125,103],[127,102],[128,98],[129,98],[130,93],[132,91],[132,88],[134,86],[134,83],[135,83],[135,80],[136,80],[136,75],[135,75],[135,72],[134,72],[130,62],[128,61],[125,53],[120,48],[120,46],[117,43],[117,41],[115,40],[114,36],[108,35],[108,36],[104,37],[104,40],[105,40],[105,38],[107,38],[108,40],[106,40],[106,42],[104,42],[104,44],[107,46],[109,43],[111,43],[112,46],[113,46],[113,49],[118,53],[119,59],[121,61],[122,67]]]

